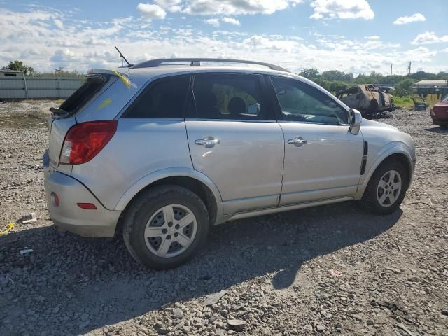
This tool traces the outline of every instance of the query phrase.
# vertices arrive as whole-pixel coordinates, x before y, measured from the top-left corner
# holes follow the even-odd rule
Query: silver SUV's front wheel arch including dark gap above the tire
[[[367,187],[367,183],[369,183],[373,173],[377,170],[379,165],[381,165],[383,162],[386,162],[387,160],[398,160],[407,168],[407,186],[410,186],[410,184],[412,183],[412,175],[414,173],[414,161],[412,160],[411,151],[406,144],[402,142],[395,142],[380,151],[379,155],[377,155],[377,158],[374,160],[374,163],[364,174],[364,178],[363,176],[361,176],[361,179],[363,180],[360,181],[358,191],[356,192],[356,195],[354,197],[355,200],[360,200],[360,198],[363,197],[365,188]]]

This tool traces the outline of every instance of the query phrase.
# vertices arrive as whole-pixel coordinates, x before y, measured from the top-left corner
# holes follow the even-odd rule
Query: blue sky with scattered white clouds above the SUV
[[[0,0],[0,66],[35,71],[165,57],[271,62],[293,72],[448,72],[448,0]]]

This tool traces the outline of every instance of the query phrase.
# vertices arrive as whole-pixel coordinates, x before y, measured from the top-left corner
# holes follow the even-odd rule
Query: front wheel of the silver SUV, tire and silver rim
[[[401,162],[398,160],[382,162],[367,183],[363,198],[359,201],[360,206],[372,214],[393,213],[405,198],[408,181],[409,173]]]

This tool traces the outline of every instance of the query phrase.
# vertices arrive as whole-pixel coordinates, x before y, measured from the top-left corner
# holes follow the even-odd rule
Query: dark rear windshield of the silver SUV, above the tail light
[[[85,83],[76,90],[62,105],[59,109],[68,112],[75,113],[85,105],[95,93],[97,93],[109,80],[109,75],[94,73],[87,76]]]

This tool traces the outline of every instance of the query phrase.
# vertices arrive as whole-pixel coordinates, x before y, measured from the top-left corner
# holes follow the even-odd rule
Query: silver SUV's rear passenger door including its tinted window
[[[283,172],[283,133],[264,78],[197,73],[186,127],[193,166],[209,176],[224,214],[276,207]]]

